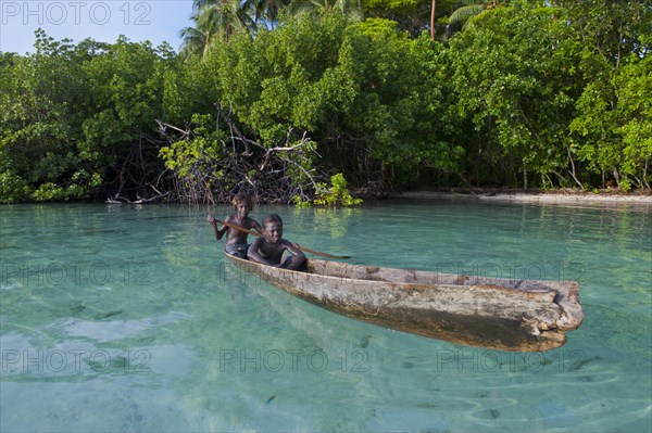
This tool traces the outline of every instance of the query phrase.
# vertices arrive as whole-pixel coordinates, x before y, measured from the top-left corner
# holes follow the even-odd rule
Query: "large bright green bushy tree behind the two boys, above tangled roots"
[[[415,164],[454,171],[462,148],[432,137],[446,127],[432,122],[446,110],[443,48],[396,27],[340,13],[303,15],[255,39],[216,43],[201,62],[212,66],[221,105],[266,147],[289,130],[308,131],[326,164],[358,181],[369,158],[398,182]]]

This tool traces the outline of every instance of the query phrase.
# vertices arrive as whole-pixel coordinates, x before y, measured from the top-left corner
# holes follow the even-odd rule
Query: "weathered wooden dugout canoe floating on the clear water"
[[[584,313],[576,281],[532,281],[306,259],[306,271],[228,254],[253,273],[312,304],[356,320],[456,344],[543,352],[564,345]]]

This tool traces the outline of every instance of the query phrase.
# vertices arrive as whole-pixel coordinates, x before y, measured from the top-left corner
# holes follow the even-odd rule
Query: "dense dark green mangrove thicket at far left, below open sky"
[[[174,53],[124,38],[75,46],[36,36],[35,54],[0,58],[0,201],[88,198],[134,145],[147,156]]]

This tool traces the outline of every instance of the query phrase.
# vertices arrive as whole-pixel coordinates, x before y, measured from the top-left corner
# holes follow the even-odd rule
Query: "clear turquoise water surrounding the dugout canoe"
[[[652,430],[650,206],[259,206],[351,263],[576,279],[546,353],[358,322],[225,266],[226,206],[0,207],[0,430]]]

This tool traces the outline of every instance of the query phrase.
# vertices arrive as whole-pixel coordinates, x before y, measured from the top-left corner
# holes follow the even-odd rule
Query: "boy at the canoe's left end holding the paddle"
[[[249,213],[253,208],[253,202],[249,195],[239,192],[231,201],[231,204],[236,209],[236,214],[227,216],[225,222],[242,227],[243,229],[255,229],[259,233],[263,233],[261,225],[255,219],[249,218]],[[224,245],[224,251],[226,251],[227,254],[247,258],[247,250],[250,244],[247,243],[247,233],[244,231],[227,227],[226,225],[223,225],[217,229],[217,221],[212,215],[206,217],[206,221],[213,225],[213,230],[215,231],[215,238],[217,240],[221,240],[224,233],[228,231],[226,244]]]

